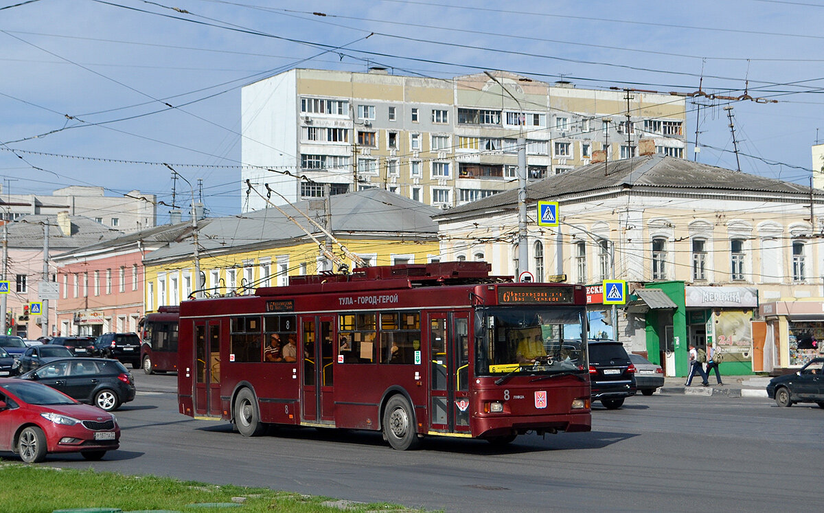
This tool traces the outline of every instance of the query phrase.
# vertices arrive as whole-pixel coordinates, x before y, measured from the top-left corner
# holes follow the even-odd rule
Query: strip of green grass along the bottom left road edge
[[[119,508],[122,511],[173,510],[207,511],[287,511],[316,513],[329,511],[410,511],[387,503],[334,502],[329,497],[311,497],[277,492],[269,488],[218,486],[183,482],[156,476],[124,476],[118,473],[52,468],[11,463],[0,459],[0,511],[3,513],[48,512],[70,508]],[[232,502],[243,497],[241,507],[186,507],[196,503]],[[237,500],[237,499],[236,499]]]

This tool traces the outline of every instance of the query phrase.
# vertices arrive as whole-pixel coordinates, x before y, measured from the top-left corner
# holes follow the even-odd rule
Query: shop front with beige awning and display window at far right
[[[780,374],[782,369],[798,369],[824,355],[824,299],[765,303],[760,313],[767,327],[765,371]]]

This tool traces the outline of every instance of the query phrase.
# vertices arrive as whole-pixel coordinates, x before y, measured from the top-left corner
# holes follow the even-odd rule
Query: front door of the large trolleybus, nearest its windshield
[[[432,431],[469,434],[469,314],[430,313]]]

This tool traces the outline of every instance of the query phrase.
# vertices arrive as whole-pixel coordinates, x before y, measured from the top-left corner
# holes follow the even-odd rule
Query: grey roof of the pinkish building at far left
[[[49,224],[49,252],[60,252],[96,242],[110,240],[123,232],[107,228],[94,219],[71,215],[71,235],[64,235],[58,226],[58,216],[30,214],[8,224],[8,247],[12,249],[42,249],[44,224]]]

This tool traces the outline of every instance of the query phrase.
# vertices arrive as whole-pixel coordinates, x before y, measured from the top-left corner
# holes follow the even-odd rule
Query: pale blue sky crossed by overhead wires
[[[503,69],[660,92],[694,92],[703,77],[704,91],[725,96],[743,94],[748,80],[751,96],[779,102],[732,104],[743,171],[806,185],[817,129],[824,142],[824,3],[812,1],[0,7],[0,183],[15,194],[93,185],[109,195],[138,189],[171,205],[165,162],[195,188],[202,180],[211,215],[237,214],[240,88],[293,67],[378,64],[436,78]],[[699,161],[735,169],[728,102],[701,101],[700,115],[687,102],[689,156],[697,122]],[[182,205],[190,188],[178,181],[177,191]],[[166,205],[158,206],[162,218]]]

